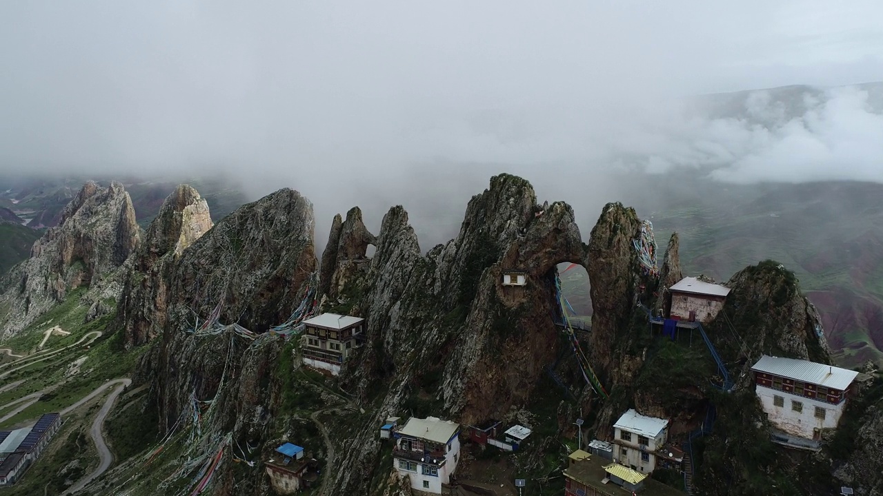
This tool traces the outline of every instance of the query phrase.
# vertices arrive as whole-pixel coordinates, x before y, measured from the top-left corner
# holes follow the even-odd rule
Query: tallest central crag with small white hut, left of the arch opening
[[[585,265],[585,245],[563,203],[537,204],[530,184],[502,175],[469,202],[457,237],[421,255],[402,207],[383,219],[359,312],[369,342],[344,365],[343,387],[373,401],[376,419],[343,444],[338,492],[364,488],[378,453],[375,424],[386,415],[457,418],[464,425],[511,417],[555,361],[554,269]],[[502,285],[522,271],[524,287]]]

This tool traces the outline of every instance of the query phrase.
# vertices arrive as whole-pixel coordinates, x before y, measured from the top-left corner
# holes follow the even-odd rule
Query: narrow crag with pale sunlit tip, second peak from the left
[[[212,228],[208,204],[192,187],[179,185],[147,228],[126,274],[115,327],[127,348],[162,332],[166,319],[166,282],[185,249]]]

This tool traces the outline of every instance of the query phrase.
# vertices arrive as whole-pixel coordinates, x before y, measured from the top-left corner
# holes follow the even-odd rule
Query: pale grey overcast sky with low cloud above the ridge
[[[715,119],[679,100],[883,80],[880,19],[879,0],[3,2],[0,169],[228,170],[320,218],[504,170],[571,203],[623,168],[883,181],[879,92]]]

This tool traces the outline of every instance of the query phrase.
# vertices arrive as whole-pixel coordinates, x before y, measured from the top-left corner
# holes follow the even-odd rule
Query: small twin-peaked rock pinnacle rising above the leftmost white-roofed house
[[[352,207],[343,222],[340,214],[335,215],[328,244],[322,252],[319,274],[320,293],[328,300],[341,297],[347,283],[356,277],[360,269],[367,268],[369,244],[376,245],[377,237],[368,232],[362,222],[361,209]]]

